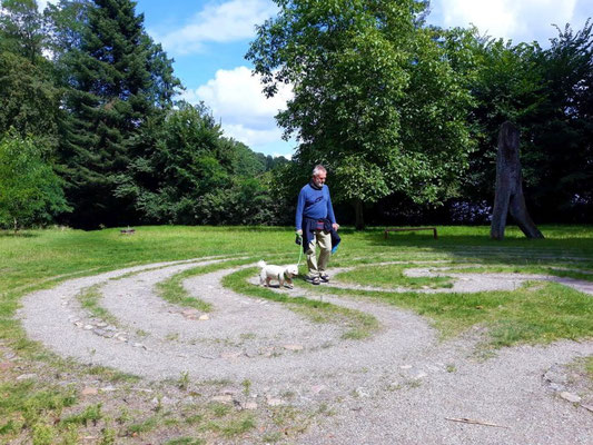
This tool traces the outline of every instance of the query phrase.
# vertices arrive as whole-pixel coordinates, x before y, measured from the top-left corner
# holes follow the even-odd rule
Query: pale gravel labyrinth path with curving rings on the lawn
[[[593,444],[593,413],[584,403],[565,399],[567,382],[555,376],[559,366],[593,355],[591,340],[510,347],[477,359],[480,329],[445,342],[426,318],[412,312],[324,294],[324,301],[378,320],[379,329],[369,338],[345,339],[346,328],[339,324],[314,323],[287,305],[221,285],[226,275],[255,264],[184,281],[190,296],[213,305],[208,314],[171,305],[155,289],[184,270],[224,260],[152,264],[71,279],[24,297],[19,318],[30,338],[85,364],[148,380],[184,374],[194,380],[228,379],[237,385],[248,379],[259,406],[332,406],[334,414],[314,423],[298,443]],[[507,290],[535,279],[593,295],[592,281],[453,274],[446,264],[417,263],[406,274],[446,274],[455,280],[449,289],[414,289],[419,294]],[[255,286],[257,277],[249,283]],[[81,307],[79,295],[92,286],[109,320],[93,318]],[[368,288],[335,280],[327,286]],[[305,285],[276,291],[322,298]],[[492,425],[455,421],[461,418]]]

